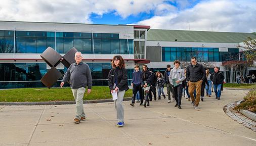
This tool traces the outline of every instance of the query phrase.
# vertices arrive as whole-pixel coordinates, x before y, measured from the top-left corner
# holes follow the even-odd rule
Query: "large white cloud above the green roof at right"
[[[205,1],[195,7],[138,22],[159,29],[256,31],[256,1]]]

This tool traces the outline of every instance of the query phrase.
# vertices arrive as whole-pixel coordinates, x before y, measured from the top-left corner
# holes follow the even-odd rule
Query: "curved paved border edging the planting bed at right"
[[[256,132],[256,122],[242,115],[240,112],[234,110],[237,102],[230,103],[223,108],[223,111],[234,121],[237,121],[239,124],[244,125],[245,127]]]

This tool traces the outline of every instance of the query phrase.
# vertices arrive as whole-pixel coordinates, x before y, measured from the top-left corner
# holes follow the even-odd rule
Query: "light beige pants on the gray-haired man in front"
[[[84,117],[84,118],[86,117],[86,114],[84,114],[84,110],[83,110],[83,100],[82,100],[84,92],[86,92],[85,87],[72,89],[72,93],[75,99],[75,106],[76,106],[75,117],[77,119],[81,119],[81,117]]]

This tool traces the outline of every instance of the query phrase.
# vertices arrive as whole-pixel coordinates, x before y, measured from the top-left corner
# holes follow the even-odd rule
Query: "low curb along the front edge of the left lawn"
[[[132,98],[124,98],[123,101],[130,101]],[[83,104],[111,103],[112,99],[83,101]],[[0,102],[0,106],[40,106],[40,105],[73,105],[75,101],[56,102]]]

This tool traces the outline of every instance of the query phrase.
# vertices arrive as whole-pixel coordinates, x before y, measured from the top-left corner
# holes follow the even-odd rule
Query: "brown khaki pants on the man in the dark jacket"
[[[201,85],[202,85],[202,80],[199,80],[197,82],[188,81],[188,92],[189,92],[189,95],[191,96],[192,102],[195,101],[195,106],[198,106],[200,102]],[[196,89],[196,99],[194,97],[195,89]]]

